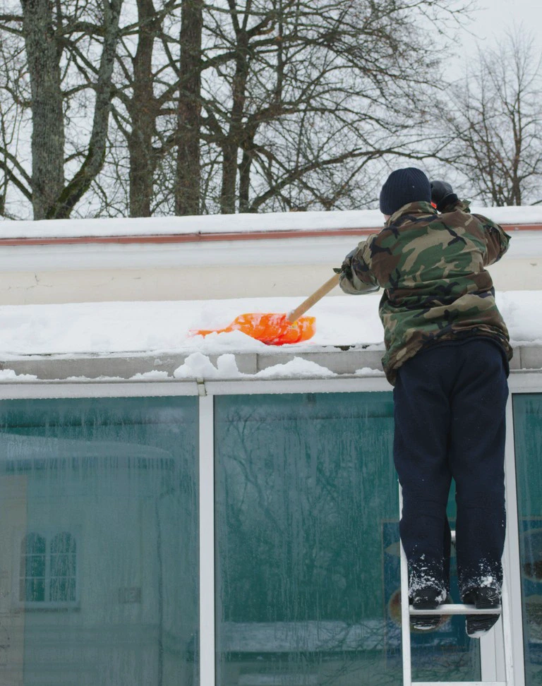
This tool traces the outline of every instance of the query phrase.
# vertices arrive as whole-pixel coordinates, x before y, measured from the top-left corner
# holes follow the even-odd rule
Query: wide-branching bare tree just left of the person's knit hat
[[[424,21],[443,28],[447,12],[457,20],[465,9],[423,0],[207,8],[203,135],[221,151],[220,210],[340,207],[372,160],[430,155],[420,127],[438,80],[431,44],[442,36]]]

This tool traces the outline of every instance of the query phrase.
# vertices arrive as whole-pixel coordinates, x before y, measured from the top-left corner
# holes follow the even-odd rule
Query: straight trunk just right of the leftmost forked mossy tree
[[[132,130],[130,156],[130,216],[150,217],[155,155],[152,136],[156,128],[156,100],[152,89],[152,50],[158,27],[152,0],[138,0],[138,49],[133,58],[133,97],[128,106]]]

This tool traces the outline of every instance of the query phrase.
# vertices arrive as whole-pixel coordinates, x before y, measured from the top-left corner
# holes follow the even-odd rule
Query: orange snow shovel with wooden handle
[[[284,345],[285,343],[300,343],[312,338],[316,327],[314,317],[302,317],[306,311],[322,299],[339,283],[339,275],[335,274],[320,286],[301,305],[288,314],[251,312],[236,317],[224,329],[193,330],[191,334],[206,336],[210,333],[224,333],[228,331],[242,331],[248,336],[267,345]]]

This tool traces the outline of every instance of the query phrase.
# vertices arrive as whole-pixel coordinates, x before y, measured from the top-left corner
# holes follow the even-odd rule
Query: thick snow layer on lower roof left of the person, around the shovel
[[[316,335],[306,344],[273,348],[242,332],[205,338],[190,330],[215,329],[245,312],[288,312],[298,298],[131,303],[66,303],[0,307],[0,356],[146,354],[205,355],[279,352],[322,345],[379,344],[383,340],[378,297],[337,296],[320,301],[311,314]]]

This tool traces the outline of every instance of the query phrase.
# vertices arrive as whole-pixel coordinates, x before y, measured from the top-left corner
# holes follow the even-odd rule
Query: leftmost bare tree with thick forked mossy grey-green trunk
[[[25,47],[30,82],[27,104],[32,113],[32,173],[30,188],[25,186],[23,192],[31,194],[35,219],[66,218],[104,163],[122,0],[104,0],[95,6],[66,0],[55,4],[51,0],[21,0],[20,4],[22,15],[0,16],[0,31],[17,35]],[[97,22],[89,20],[89,15],[95,16]],[[90,37],[86,45],[83,37]],[[100,58],[95,66],[97,49]],[[74,82],[70,78],[74,70],[93,73],[95,78],[90,85]],[[71,99],[88,88],[92,89],[93,100],[88,143],[84,152],[76,144],[76,154],[66,158]],[[66,181],[66,165],[77,159],[80,164]]]

